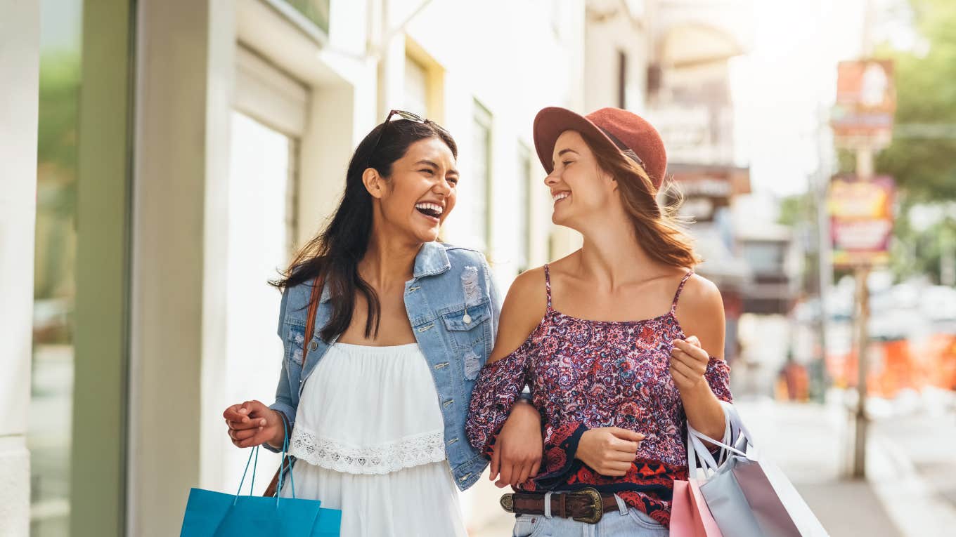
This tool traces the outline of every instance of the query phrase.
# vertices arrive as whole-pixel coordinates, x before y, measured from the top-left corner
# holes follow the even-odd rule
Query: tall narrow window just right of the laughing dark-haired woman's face
[[[490,189],[491,189],[491,113],[478,101],[474,103],[472,127],[472,177],[467,189],[467,203],[471,206],[471,229],[474,247],[486,252],[490,249]],[[470,182],[468,181],[470,180]]]

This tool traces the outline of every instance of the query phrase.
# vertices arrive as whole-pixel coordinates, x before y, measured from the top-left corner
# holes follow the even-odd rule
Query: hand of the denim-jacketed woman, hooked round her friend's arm
[[[500,474],[494,484],[502,488],[537,476],[543,445],[541,415],[532,403],[518,399],[494,442],[489,479],[494,481]]]

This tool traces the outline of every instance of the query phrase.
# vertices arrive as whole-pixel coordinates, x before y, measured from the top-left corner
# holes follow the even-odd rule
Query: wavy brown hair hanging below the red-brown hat
[[[677,216],[677,209],[683,201],[681,193],[669,185],[668,194],[676,201],[673,204],[659,203],[658,188],[640,164],[604,140],[582,136],[594,153],[597,165],[618,182],[624,210],[647,255],[671,267],[693,269],[701,263],[701,258],[694,253],[693,239],[685,229],[686,222]]]

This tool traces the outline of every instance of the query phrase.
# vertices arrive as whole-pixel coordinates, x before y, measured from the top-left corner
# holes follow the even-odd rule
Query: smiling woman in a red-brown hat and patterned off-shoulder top
[[[511,286],[468,440],[489,456],[530,386],[541,472],[492,464],[492,479],[497,470],[499,486],[515,490],[502,497],[514,535],[666,535],[673,483],[687,479],[686,424],[724,434],[720,291],[694,274],[690,238],[657,201],[667,158],[647,121],[545,108],[534,144],[552,221],[579,231],[583,246]]]

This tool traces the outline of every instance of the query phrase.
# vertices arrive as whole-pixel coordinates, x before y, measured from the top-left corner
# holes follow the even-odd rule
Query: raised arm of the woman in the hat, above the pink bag
[[[724,361],[724,302],[710,281],[693,276],[677,308],[687,340],[674,340],[670,373],[681,393],[687,422],[712,439],[724,436],[724,409],[731,401]],[[708,353],[709,351],[709,353]]]

